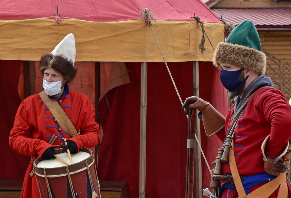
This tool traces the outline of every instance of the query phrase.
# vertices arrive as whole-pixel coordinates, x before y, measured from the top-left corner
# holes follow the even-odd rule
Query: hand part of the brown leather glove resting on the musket
[[[183,108],[185,108],[185,114],[188,115],[189,109],[197,109],[203,112],[210,106],[210,103],[202,100],[196,96],[191,96],[184,101]]]

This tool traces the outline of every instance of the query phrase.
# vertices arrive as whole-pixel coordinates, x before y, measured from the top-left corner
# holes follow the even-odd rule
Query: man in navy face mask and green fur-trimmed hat
[[[255,25],[248,20],[239,24],[226,43],[218,44],[213,62],[235,104],[226,117],[196,96],[187,98],[183,108],[186,114],[189,108],[198,109],[206,135],[215,133],[223,141],[223,154],[229,149],[226,158],[221,155],[216,161],[222,164],[214,174],[230,179],[221,180],[219,197],[290,197],[283,161],[291,137],[291,108],[263,75],[266,56]]]

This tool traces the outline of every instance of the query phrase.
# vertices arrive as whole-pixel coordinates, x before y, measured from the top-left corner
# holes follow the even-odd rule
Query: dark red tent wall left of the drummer
[[[23,179],[30,160],[29,156],[12,151],[8,142],[14,117],[21,103],[17,91],[21,64],[22,61],[19,60],[0,60],[0,92],[2,95],[0,102],[0,178],[6,180]],[[25,166],[22,164],[25,164]]]

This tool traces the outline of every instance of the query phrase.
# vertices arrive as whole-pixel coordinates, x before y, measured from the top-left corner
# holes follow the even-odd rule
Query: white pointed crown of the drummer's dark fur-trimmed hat
[[[74,65],[76,58],[76,44],[75,37],[72,33],[65,36],[65,38],[59,42],[55,49],[51,52],[55,57],[56,55],[62,55],[68,58],[69,61]]]

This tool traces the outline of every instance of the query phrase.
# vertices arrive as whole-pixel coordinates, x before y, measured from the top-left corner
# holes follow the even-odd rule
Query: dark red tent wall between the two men
[[[223,108],[227,107],[226,91],[219,83],[219,70],[210,62],[199,64],[200,97],[214,102],[214,106],[224,113]],[[168,65],[184,101],[193,95],[192,63]],[[99,150],[98,176],[107,181],[128,181],[131,197],[138,197],[141,63],[126,63],[126,66],[132,83],[109,91],[106,94],[109,105],[103,98],[98,106],[104,131]],[[146,197],[183,197],[187,117],[164,63],[148,63],[147,77]],[[216,100],[220,106],[217,106]],[[201,142],[211,165],[221,141],[214,136],[206,138],[201,130]],[[205,167],[202,160],[204,188],[209,187],[210,182],[210,173]]]

